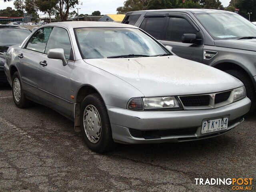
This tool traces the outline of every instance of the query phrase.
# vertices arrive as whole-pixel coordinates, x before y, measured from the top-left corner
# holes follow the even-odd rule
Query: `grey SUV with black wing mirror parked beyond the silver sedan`
[[[244,17],[209,9],[143,10],[128,12],[122,23],[142,28],[182,58],[235,76],[255,110],[256,26]]]

